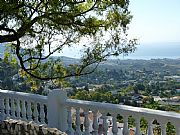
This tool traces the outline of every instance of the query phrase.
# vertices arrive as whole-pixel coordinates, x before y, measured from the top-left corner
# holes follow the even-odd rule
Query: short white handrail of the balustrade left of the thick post
[[[0,90],[0,94],[4,97],[12,97],[12,98],[19,98],[31,101],[37,101],[44,104],[47,104],[47,96],[42,96],[39,94],[32,94],[32,93],[24,93],[24,92],[17,92],[17,91],[9,91],[9,90]]]

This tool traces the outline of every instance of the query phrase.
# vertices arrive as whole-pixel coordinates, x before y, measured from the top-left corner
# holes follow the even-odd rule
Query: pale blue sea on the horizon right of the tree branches
[[[179,59],[180,42],[140,43],[134,53],[121,55],[120,59]]]

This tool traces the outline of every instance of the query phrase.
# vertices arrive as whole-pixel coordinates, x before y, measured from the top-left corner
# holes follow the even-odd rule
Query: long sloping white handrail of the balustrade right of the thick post
[[[78,107],[81,108],[89,108],[89,109],[97,109],[100,112],[116,112],[117,114],[132,114],[141,115],[142,117],[145,115],[146,117],[164,117],[166,120],[171,119],[171,121],[179,121],[180,123],[180,114],[175,112],[167,112],[160,110],[153,110],[148,108],[140,108],[140,107],[132,107],[127,105],[119,105],[119,104],[111,104],[111,103],[100,103],[93,101],[83,101],[76,99],[67,99],[67,106]],[[167,119],[168,118],[168,119]]]

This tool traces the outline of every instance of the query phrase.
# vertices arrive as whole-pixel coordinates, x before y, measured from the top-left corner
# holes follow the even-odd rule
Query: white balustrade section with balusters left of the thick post
[[[45,123],[47,97],[37,94],[0,90],[1,119],[14,118]]]

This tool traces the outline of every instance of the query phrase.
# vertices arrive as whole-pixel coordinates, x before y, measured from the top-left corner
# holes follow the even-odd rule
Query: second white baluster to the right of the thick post
[[[76,131],[75,131],[75,135],[82,135],[81,132],[81,121],[80,121],[80,112],[79,112],[80,108],[76,108]]]

